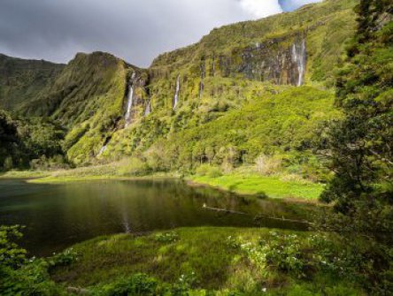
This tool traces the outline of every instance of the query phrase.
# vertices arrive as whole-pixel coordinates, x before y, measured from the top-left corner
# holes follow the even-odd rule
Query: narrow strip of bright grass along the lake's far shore
[[[0,178],[27,178],[28,183],[34,184],[184,178],[189,186],[210,186],[218,190],[239,195],[312,203],[318,203],[320,194],[324,190],[322,184],[312,183],[306,180],[285,180],[279,177],[266,177],[256,174],[232,173],[220,177],[197,175],[183,177],[176,173],[155,173],[145,176],[127,176],[118,173],[116,171],[117,168],[117,164],[114,164],[112,166],[96,166],[67,171],[9,171],[1,175]]]

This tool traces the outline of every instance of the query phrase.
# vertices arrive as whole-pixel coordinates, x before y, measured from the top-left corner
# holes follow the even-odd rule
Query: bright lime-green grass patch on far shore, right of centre
[[[215,186],[236,194],[267,195],[270,198],[317,201],[324,190],[321,184],[307,181],[285,181],[278,177],[258,175],[225,175],[217,178],[193,176],[189,180],[196,184]]]

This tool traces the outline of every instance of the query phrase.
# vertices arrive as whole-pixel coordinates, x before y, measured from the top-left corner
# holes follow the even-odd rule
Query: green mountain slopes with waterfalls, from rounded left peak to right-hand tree
[[[145,157],[149,148],[157,150],[162,141],[177,147],[165,148],[172,151],[171,157],[177,157],[184,147],[181,141],[176,146],[173,139],[225,129],[221,125],[225,119],[220,118],[243,118],[244,109],[253,112],[249,115],[252,135],[231,143],[226,137],[206,134],[214,142],[211,147],[235,145],[247,162],[275,149],[310,152],[310,144],[299,143],[307,143],[310,131],[334,114],[332,95],[323,89],[332,86],[335,65],[341,62],[345,42],[354,33],[355,4],[356,0],[327,0],[217,28],[194,45],[157,57],[146,70],[101,52],[78,54],[52,75],[50,84],[34,97],[23,99],[20,110],[27,117],[50,118],[64,126],[64,151],[78,165],[131,155]],[[294,90],[304,84],[313,88]],[[293,102],[287,100],[291,95]],[[267,103],[276,96],[285,109],[275,119],[278,123],[266,119],[254,125],[253,118],[280,112]],[[320,105],[312,103],[313,110],[309,110],[307,100],[314,97],[324,99]],[[297,106],[308,110],[306,119],[287,111]],[[293,134],[282,134],[281,121],[293,126]],[[248,133],[242,120],[233,119],[231,125]],[[258,137],[259,144],[255,144]],[[281,137],[286,138],[279,140]],[[288,145],[290,138],[296,144]],[[197,139],[189,139],[189,143],[208,144]],[[267,142],[262,145],[261,139]],[[192,165],[183,162],[171,167],[189,169]]]

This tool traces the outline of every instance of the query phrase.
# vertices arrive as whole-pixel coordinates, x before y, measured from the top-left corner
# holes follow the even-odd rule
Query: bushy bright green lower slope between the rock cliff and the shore
[[[280,156],[286,167],[304,177],[318,174],[320,164],[313,154],[320,145],[321,127],[341,117],[333,106],[333,93],[289,87],[277,95],[266,91],[249,94],[243,107],[220,116],[220,104],[226,103],[223,99],[194,114],[197,122],[184,120],[193,116],[188,110],[181,110],[172,125],[165,126],[164,118],[145,118],[116,133],[103,156],[115,160],[134,153],[157,171],[193,171],[202,163],[226,167],[250,164],[264,154]],[[171,122],[170,117],[167,120]]]

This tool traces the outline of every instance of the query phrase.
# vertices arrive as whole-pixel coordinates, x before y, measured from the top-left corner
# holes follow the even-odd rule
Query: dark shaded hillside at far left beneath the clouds
[[[64,66],[0,54],[0,109],[15,111],[35,99]]]

